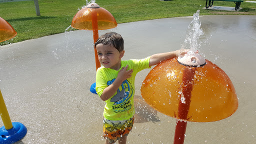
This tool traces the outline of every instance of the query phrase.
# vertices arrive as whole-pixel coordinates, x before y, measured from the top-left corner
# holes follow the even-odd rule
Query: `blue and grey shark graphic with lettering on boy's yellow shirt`
[[[110,85],[115,80],[107,81],[107,85]],[[110,99],[111,102],[114,102],[112,108],[115,113],[124,112],[131,108],[131,95],[133,94],[133,88],[130,85],[130,82],[125,79],[121,84],[121,89],[117,89],[117,93]]]

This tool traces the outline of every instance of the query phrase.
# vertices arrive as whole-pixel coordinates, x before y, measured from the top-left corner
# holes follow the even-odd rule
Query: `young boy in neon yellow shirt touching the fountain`
[[[138,71],[150,68],[161,61],[177,57],[180,50],[158,53],[143,59],[121,60],[124,55],[120,34],[109,32],[94,43],[98,60],[103,66],[96,72],[96,91],[106,102],[103,112],[105,143],[126,143],[134,121],[134,79]]]

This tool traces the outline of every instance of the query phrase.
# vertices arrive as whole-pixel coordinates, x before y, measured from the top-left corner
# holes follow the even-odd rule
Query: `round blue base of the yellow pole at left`
[[[12,126],[10,129],[5,129],[4,126],[0,128],[0,144],[17,142],[26,135],[27,129],[22,123],[12,122]]]

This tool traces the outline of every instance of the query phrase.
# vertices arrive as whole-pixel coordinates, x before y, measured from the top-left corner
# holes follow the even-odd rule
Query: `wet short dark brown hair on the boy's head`
[[[116,32],[108,32],[99,36],[97,41],[94,43],[94,48],[96,48],[96,45],[99,43],[102,43],[103,45],[112,44],[119,52],[123,50],[122,36]]]

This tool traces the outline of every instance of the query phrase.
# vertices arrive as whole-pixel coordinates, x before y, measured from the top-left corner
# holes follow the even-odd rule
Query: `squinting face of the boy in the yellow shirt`
[[[124,50],[119,52],[116,48],[114,48],[111,44],[102,44],[99,43],[96,45],[98,61],[105,68],[112,68],[115,70],[119,70],[121,67],[121,57],[124,54]]]

